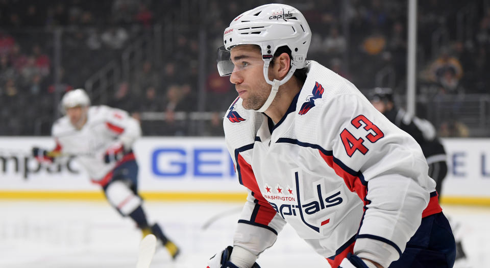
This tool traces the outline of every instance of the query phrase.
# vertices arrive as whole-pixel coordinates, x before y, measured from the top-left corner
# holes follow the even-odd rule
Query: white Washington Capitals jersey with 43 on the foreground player
[[[239,98],[226,113],[227,147],[249,189],[234,245],[258,255],[287,222],[325,258],[355,241],[354,254],[387,267],[421,218],[442,211],[435,182],[415,140],[352,83],[307,67],[277,124]]]

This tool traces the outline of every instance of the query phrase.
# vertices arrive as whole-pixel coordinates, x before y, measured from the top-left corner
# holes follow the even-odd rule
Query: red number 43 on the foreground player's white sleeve
[[[375,143],[380,138],[384,137],[383,132],[362,114],[352,119],[351,124],[356,129],[359,129],[362,126],[361,122],[365,125],[363,128],[366,131],[364,138],[369,140],[371,143]],[[373,130],[375,134],[373,135],[370,130]],[[364,139],[362,137],[354,137],[354,135],[352,135],[352,133],[350,133],[347,129],[342,130],[340,133],[340,138],[342,139],[342,143],[344,143],[344,148],[346,149],[349,157],[352,157],[357,150],[363,155],[369,151],[369,149],[367,149],[367,147],[364,145]]]

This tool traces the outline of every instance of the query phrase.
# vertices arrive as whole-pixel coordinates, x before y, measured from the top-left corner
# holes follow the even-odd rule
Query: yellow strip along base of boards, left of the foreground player
[[[247,193],[234,192],[151,192],[143,191],[151,201],[227,201],[245,202]],[[102,191],[0,191],[0,199],[18,200],[105,200]]]

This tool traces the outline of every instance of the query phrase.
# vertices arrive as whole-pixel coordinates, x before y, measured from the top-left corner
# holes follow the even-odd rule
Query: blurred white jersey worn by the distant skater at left
[[[57,143],[55,151],[76,156],[92,181],[104,185],[110,177],[107,175],[117,164],[134,159],[130,153],[117,163],[105,163],[106,150],[116,142],[122,142],[125,150],[130,151],[133,142],[141,136],[141,128],[138,121],[123,110],[91,106],[81,130],[71,125],[68,116],[63,116],[53,125],[52,135]]]

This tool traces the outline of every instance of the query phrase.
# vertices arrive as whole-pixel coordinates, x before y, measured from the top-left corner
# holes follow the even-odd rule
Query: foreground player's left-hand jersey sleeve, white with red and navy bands
[[[235,149],[229,143],[228,150],[236,167],[238,181],[248,189],[247,202],[243,206],[233,238],[234,246],[259,255],[274,245],[277,234],[286,224],[260,193],[252,166],[253,143]]]

